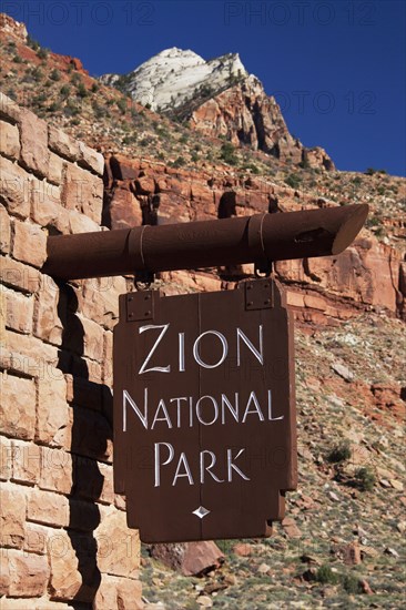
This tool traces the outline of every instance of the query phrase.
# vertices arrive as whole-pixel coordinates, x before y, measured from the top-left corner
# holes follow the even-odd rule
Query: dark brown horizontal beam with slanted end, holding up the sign
[[[254,214],[48,237],[43,273],[61,279],[328,256],[356,237],[368,206]]]

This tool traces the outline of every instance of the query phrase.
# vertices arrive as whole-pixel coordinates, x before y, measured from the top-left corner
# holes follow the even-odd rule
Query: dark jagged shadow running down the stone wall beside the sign
[[[103,488],[104,477],[100,472],[97,454],[103,454],[109,437],[112,438],[111,426],[105,426],[104,438],[95,435],[94,410],[83,405],[85,396],[99,395],[103,401],[108,400],[109,414],[112,414],[111,393],[103,392],[105,386],[92,384],[89,380],[89,368],[84,354],[84,329],[79,317],[78,298],[74,289],[59,283],[60,296],[58,315],[62,322],[62,344],[59,350],[58,368],[73,377],[73,397],[71,404],[71,447],[72,454],[72,488],[69,495],[69,525],[67,528],[72,549],[77,556],[77,577],[72,581],[72,589],[67,582],[67,590],[72,590],[71,603],[75,609],[92,608],[92,602],[101,582],[101,572],[98,567],[98,542],[94,530],[100,523],[100,508],[97,500]],[[88,390],[88,392],[87,392]],[[91,390],[91,392],[89,392]],[[94,390],[94,392],[93,392]],[[110,397],[110,404],[109,404]],[[100,405],[99,405],[100,408]],[[100,416],[99,416],[100,417]],[[110,420],[111,424],[111,420]],[[98,433],[100,427],[97,428]],[[109,436],[110,430],[110,436]],[[98,438],[94,438],[94,437]],[[67,573],[67,579],[70,575]]]

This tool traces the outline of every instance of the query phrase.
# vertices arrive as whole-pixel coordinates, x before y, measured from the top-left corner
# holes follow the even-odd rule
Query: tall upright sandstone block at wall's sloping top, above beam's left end
[[[48,175],[48,125],[33,112],[21,109],[21,163],[41,177]]]

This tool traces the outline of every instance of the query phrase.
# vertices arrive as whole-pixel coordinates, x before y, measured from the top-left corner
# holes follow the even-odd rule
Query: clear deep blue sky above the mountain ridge
[[[0,9],[91,74],[124,73],[169,47],[238,52],[291,132],[339,170],[405,175],[403,0],[14,0]]]

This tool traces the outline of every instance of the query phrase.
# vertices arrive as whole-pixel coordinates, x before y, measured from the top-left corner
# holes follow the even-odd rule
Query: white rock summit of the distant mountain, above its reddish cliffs
[[[152,110],[170,110],[183,105],[204,92],[232,87],[247,77],[237,53],[205,61],[191,50],[173,47],[161,51],[125,77],[105,74],[101,80],[118,84],[125,80],[132,98]]]

